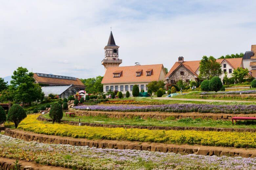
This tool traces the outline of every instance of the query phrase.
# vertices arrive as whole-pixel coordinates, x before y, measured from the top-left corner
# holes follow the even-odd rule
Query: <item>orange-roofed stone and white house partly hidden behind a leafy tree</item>
[[[233,70],[243,66],[242,58],[232,59],[217,59],[222,66],[223,74],[220,76],[221,79],[224,77],[224,73],[227,73],[227,77],[231,77]],[[176,84],[179,80],[189,83],[189,81],[199,81],[199,66],[200,60],[196,61],[184,61],[183,57],[179,57],[178,61],[174,63],[170,71],[165,76],[166,84]]]

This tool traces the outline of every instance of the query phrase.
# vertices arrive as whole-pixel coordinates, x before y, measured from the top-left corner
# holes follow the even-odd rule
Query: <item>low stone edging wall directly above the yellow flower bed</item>
[[[52,122],[52,119],[44,118],[42,115],[37,117],[40,121]],[[75,121],[61,121],[65,124],[78,126],[79,122]],[[164,126],[131,126],[131,125],[109,125],[109,124],[98,124],[98,123],[84,123],[81,122],[82,126],[92,127],[124,127],[124,128],[139,128],[149,130],[198,130],[198,131],[224,131],[224,132],[256,132],[253,128],[221,128],[221,127],[164,127]]]

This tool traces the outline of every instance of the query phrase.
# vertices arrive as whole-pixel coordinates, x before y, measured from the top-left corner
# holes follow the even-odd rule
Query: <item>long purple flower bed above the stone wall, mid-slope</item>
[[[169,104],[151,106],[105,106],[105,105],[83,105],[75,106],[77,110],[98,110],[98,111],[163,111],[163,112],[201,112],[201,113],[234,113],[249,114],[256,113],[256,105],[209,105],[209,104]]]

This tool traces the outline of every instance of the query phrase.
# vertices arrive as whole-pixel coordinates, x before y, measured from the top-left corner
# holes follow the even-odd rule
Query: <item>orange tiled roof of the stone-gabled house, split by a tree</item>
[[[231,67],[236,69],[241,66],[243,58],[216,59],[216,61],[219,63],[222,63],[224,60],[226,60],[231,65]],[[175,62],[171,70],[166,74],[165,78],[169,77],[181,64],[184,65],[184,67],[186,67],[189,71],[191,71],[195,76],[198,76],[196,74],[196,71],[200,66],[200,60],[184,61],[182,63]]]

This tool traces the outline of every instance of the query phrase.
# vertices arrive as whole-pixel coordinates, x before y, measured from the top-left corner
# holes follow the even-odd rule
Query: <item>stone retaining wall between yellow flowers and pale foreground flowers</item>
[[[231,147],[213,147],[213,146],[196,146],[196,145],[175,145],[162,143],[141,143],[128,141],[111,141],[111,140],[87,140],[75,139],[70,137],[60,137],[53,135],[36,134],[16,129],[6,129],[5,135],[24,141],[37,141],[45,144],[70,144],[75,146],[89,146],[96,148],[115,148],[115,149],[135,149],[159,152],[174,152],[179,154],[198,154],[198,155],[216,155],[216,156],[241,156],[245,158],[255,158],[256,149],[236,149]],[[243,150],[243,151],[241,151]]]

